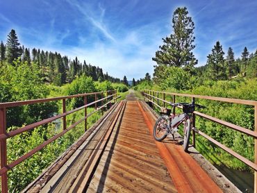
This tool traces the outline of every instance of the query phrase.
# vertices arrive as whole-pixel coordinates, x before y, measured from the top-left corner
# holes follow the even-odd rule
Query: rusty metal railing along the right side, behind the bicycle
[[[150,101],[153,104],[153,108],[154,108],[154,106],[157,106],[158,108],[161,107],[161,104],[159,103],[159,101],[162,101],[164,107],[165,107],[165,103],[169,104],[170,101],[165,100],[165,97],[167,97],[167,95],[172,97],[172,103],[175,103],[176,96],[179,96],[179,97],[190,97],[193,102],[195,101],[195,99],[207,99],[207,100],[213,100],[213,101],[222,101],[222,102],[227,102],[227,103],[238,103],[238,104],[242,104],[242,105],[254,106],[254,127],[255,127],[254,131],[251,131],[247,128],[243,128],[242,126],[237,126],[235,124],[231,124],[231,123],[229,123],[227,121],[223,121],[221,119],[217,119],[215,117],[211,117],[210,115],[206,115],[204,113],[194,111],[193,116],[192,116],[192,127],[194,128],[192,131],[192,144],[193,144],[193,146],[195,146],[195,133],[198,133],[199,135],[205,137],[210,142],[213,142],[213,144],[219,146],[219,148],[230,153],[235,158],[238,158],[239,160],[244,162],[246,165],[253,168],[254,169],[254,192],[257,192],[257,101],[229,99],[229,98],[222,98],[222,97],[209,97],[209,96],[201,96],[201,95],[196,95],[196,94],[179,94],[179,93],[172,93],[172,92],[160,92],[160,91],[155,91],[155,90],[144,90],[144,92],[142,92],[142,94],[144,96],[144,99],[147,99],[147,101]],[[163,99],[159,98],[159,94],[163,95]],[[217,140],[214,140],[212,137],[195,129],[195,115],[198,115],[200,117],[203,117],[204,119],[214,121],[217,124],[227,126],[229,128],[232,128],[235,131],[239,131],[241,133],[244,133],[246,135],[254,137],[254,162],[251,162],[251,160],[244,158],[243,156],[236,153],[232,149],[229,149],[227,146],[224,146],[224,144],[217,142]]]

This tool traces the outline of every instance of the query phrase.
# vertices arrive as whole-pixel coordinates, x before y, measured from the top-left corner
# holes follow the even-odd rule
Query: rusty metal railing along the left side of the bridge
[[[106,93],[106,97],[103,97],[104,94]],[[94,101],[91,103],[88,103],[88,96],[94,96]],[[97,97],[100,96],[97,100]],[[66,111],[66,99],[72,99],[72,98],[78,98],[78,97],[83,97],[84,98],[84,105],[78,108],[75,108],[73,110]],[[91,115],[94,114],[94,112],[97,112],[98,110],[101,110],[102,108],[108,106],[111,102],[117,101],[117,91],[116,90],[108,90],[105,92],[92,92],[92,93],[85,93],[85,94],[76,94],[76,95],[71,95],[71,96],[66,96],[66,97],[54,97],[54,98],[49,98],[49,99],[35,99],[35,100],[30,100],[30,101],[16,101],[16,102],[9,102],[9,103],[0,103],[0,151],[1,151],[1,169],[0,169],[0,174],[1,174],[1,192],[6,193],[8,192],[8,175],[7,172],[21,163],[22,161],[26,160],[30,156],[32,156],[34,153],[40,151],[40,149],[43,149],[44,146],[47,146],[47,144],[50,144],[54,140],[58,139],[58,137],[64,135],[67,133],[67,131],[70,131],[72,128],[80,124],[81,122],[85,121],[85,131],[87,130],[87,119]],[[7,108],[12,108],[16,106],[24,106],[24,105],[30,105],[34,103],[46,103],[50,101],[62,101],[63,105],[63,113],[60,115],[56,115],[54,117],[50,117],[48,119],[44,119],[42,121],[35,122],[33,124],[29,124],[27,126],[24,126],[22,128],[17,128],[14,131],[10,131],[7,133],[6,131],[6,109]],[[103,101],[106,103],[103,104]],[[97,107],[97,104],[101,103],[101,106]],[[89,106],[94,105],[94,111],[90,112],[89,114],[87,113],[87,108]],[[72,114],[73,112],[76,112],[78,110],[85,109],[85,116],[83,119],[80,119],[79,121],[76,121],[74,124],[69,126],[67,128],[67,123],[66,123],[66,116]],[[63,131],[54,135],[51,137],[49,140],[44,141],[42,144],[39,146],[35,147],[35,149],[29,151],[26,153],[24,156],[18,158],[17,160],[11,162],[10,164],[7,164],[7,149],[6,149],[6,140],[10,137],[14,137],[15,135],[19,135],[20,133],[24,133],[26,131],[30,131],[33,128],[36,128],[38,126],[42,126],[44,124],[48,124],[56,119],[63,118]]]

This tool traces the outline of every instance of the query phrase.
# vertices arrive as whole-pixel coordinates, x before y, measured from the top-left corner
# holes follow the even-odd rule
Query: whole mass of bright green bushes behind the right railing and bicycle
[[[199,83],[199,80],[192,80],[192,77],[188,78],[187,76],[179,76],[179,74],[184,74],[183,69],[179,68],[175,71],[172,71],[174,67],[167,68],[167,72],[170,74],[167,76],[167,79],[163,79],[162,85],[153,85],[152,83],[147,83],[143,81],[138,84],[135,89],[138,90],[165,90],[167,92],[179,92],[179,93],[188,93],[188,94],[199,94],[205,96],[213,97],[226,97],[226,98],[235,98],[235,99],[246,99],[246,100],[256,100],[257,98],[257,78],[237,78],[234,81],[204,81]],[[165,71],[166,72],[166,71]],[[174,78],[172,72],[176,74]],[[181,78],[182,77],[182,78]],[[183,85],[183,77],[188,84],[191,83],[190,90],[178,90],[179,87],[176,87],[176,84]],[[178,78],[181,78],[181,81],[176,81]],[[169,85],[169,86],[167,86]],[[174,90],[176,87],[176,90]],[[166,96],[167,101],[172,101],[172,98]],[[244,128],[249,128],[251,131],[254,131],[254,108],[252,106],[244,106],[240,104],[233,103],[224,103],[219,101],[210,101],[205,99],[196,99],[196,103],[206,106],[207,108],[201,110],[207,115],[212,117],[217,117],[224,121],[228,121],[232,124],[242,126]],[[190,102],[191,99],[188,97],[176,97],[177,102]],[[179,112],[179,109],[178,109]],[[213,137],[218,142],[221,142],[225,146],[233,149],[240,155],[245,158],[254,161],[254,139],[244,135],[238,131],[233,131],[231,128],[221,126],[214,123],[213,121],[208,121],[197,117],[196,121],[197,128]],[[219,149],[217,146],[208,142],[204,137],[197,135],[197,149],[211,162],[218,165],[226,165],[233,169],[241,170],[251,170],[247,165],[244,165],[242,162],[233,158],[222,149]]]

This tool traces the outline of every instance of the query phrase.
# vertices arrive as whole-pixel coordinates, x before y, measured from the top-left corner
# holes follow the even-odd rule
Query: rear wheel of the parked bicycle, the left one
[[[163,127],[165,128],[160,128],[160,124],[165,124]],[[165,137],[167,137],[167,126],[169,124],[169,117],[167,115],[163,115],[160,116],[157,121],[156,124],[154,125],[154,139],[158,142],[162,141],[165,139]],[[159,130],[158,130],[159,129]],[[160,133],[160,129],[163,131],[162,133]],[[159,134],[160,133],[160,134]]]

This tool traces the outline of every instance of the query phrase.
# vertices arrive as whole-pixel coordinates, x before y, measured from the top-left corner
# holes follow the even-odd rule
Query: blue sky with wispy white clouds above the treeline
[[[186,6],[194,21],[198,65],[219,40],[225,53],[257,49],[257,1],[1,0],[0,40],[12,28],[25,47],[58,51],[128,80],[153,73],[161,38],[172,33],[172,14]]]

